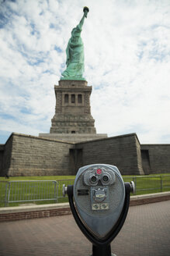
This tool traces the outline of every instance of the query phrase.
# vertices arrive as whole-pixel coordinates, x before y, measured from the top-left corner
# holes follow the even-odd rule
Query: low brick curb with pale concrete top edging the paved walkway
[[[170,191],[130,197],[130,206],[166,200],[170,200]],[[3,207],[0,208],[0,222],[69,214],[71,214],[69,203]]]

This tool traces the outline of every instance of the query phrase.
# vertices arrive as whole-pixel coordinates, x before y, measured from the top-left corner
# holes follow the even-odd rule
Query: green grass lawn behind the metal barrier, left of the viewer
[[[42,182],[40,182],[40,180]],[[62,186],[63,183],[73,184],[74,180],[75,176],[16,176],[9,177],[9,179],[0,177],[0,207],[5,206],[5,197],[9,197],[9,186],[6,189],[9,182],[9,201],[15,201],[9,203],[9,206],[18,206],[20,204],[67,202],[68,197],[62,198]],[[53,181],[57,182],[55,183]],[[53,198],[56,197],[58,197],[58,199],[53,200]],[[50,198],[50,200],[47,200],[47,198]],[[42,201],[42,199],[44,199],[44,201]]]

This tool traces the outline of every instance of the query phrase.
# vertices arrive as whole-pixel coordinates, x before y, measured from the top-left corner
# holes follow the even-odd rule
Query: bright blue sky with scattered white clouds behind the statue
[[[170,143],[170,0],[0,0],[0,144],[49,133],[65,49],[82,29],[97,133]]]

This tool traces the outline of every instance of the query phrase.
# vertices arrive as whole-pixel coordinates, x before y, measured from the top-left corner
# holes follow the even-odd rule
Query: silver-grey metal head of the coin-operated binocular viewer
[[[120,171],[114,165],[83,166],[75,177],[73,197],[85,229],[97,240],[106,240],[123,215],[126,187]]]

